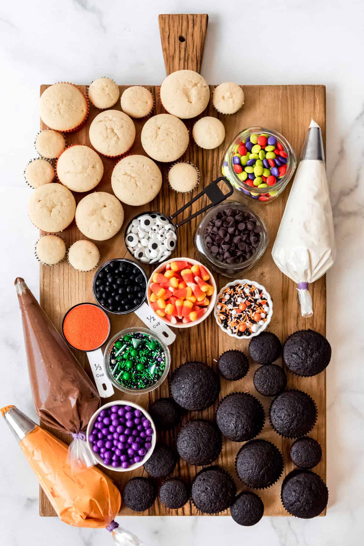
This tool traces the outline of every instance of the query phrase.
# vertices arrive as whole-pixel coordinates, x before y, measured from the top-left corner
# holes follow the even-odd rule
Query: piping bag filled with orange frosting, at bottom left
[[[75,527],[106,529],[118,546],[142,544],[114,520],[121,496],[106,474],[95,466],[73,474],[67,463],[65,443],[41,429],[15,406],[5,406],[1,413],[62,521]]]

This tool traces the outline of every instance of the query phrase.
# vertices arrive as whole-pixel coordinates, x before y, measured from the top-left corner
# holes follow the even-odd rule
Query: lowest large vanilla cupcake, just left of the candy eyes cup
[[[110,239],[117,234],[123,222],[123,206],[110,193],[89,193],[77,205],[77,228],[89,239],[95,241]]]

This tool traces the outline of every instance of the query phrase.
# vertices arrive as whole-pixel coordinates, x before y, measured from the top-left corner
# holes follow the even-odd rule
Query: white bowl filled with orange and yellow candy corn
[[[216,302],[213,275],[192,258],[171,258],[154,269],[147,301],[156,316],[172,328],[190,328],[205,321]]]

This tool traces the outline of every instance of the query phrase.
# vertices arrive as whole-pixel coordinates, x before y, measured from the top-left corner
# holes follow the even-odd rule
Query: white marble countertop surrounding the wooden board
[[[209,82],[325,84],[327,172],[335,215],[338,258],[327,275],[327,337],[333,358],[327,371],[326,518],[263,518],[243,528],[230,518],[123,518],[120,523],[151,546],[211,546],[249,541],[271,546],[357,544],[364,508],[362,276],[364,234],[363,21],[361,0],[13,0],[0,7],[2,56],[1,230],[2,381],[0,403],[33,416],[20,313],[13,281],[26,278],[38,294],[33,256],[37,230],[26,215],[30,190],[22,171],[34,157],[41,83],[159,84],[164,64],[158,13],[210,16],[202,74]],[[361,23],[360,23],[361,21]],[[361,354],[360,354],[361,353]],[[72,529],[39,518],[38,485],[19,447],[0,423],[0,526],[4,546],[97,546],[105,531]]]

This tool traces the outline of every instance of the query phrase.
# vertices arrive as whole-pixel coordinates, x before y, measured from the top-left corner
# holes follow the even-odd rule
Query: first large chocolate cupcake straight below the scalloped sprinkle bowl
[[[245,442],[258,435],[264,425],[264,409],[255,396],[232,393],[219,403],[216,412],[217,426],[234,442]]]

